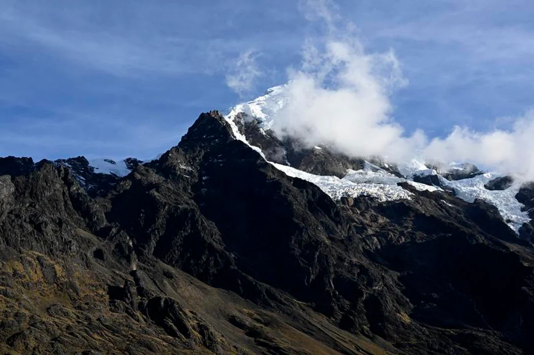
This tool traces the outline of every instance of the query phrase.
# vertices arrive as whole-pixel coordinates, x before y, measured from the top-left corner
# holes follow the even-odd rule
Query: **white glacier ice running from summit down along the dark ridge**
[[[248,117],[256,118],[259,122],[258,126],[260,126],[262,130],[269,130],[276,122],[276,116],[279,110],[281,110],[288,102],[285,90],[286,87],[287,84],[271,87],[262,96],[245,103],[239,103],[230,108],[224,116],[226,121],[232,127],[232,132],[235,138],[259,152],[264,158],[265,155],[262,150],[252,146],[252,144],[247,141],[246,136],[239,132],[238,127],[235,124],[235,119],[239,114],[244,114]],[[321,149],[321,147],[313,148]],[[470,203],[475,199],[482,199],[496,206],[502,218],[516,233],[519,233],[519,229],[523,223],[530,221],[528,212],[523,211],[524,205],[515,198],[516,193],[521,187],[519,183],[514,183],[506,190],[492,191],[484,187],[484,184],[490,180],[497,178],[498,176],[503,176],[497,172],[488,172],[474,176],[473,178],[449,181],[439,175],[434,168],[429,168],[424,162],[412,159],[410,162],[398,165],[398,171],[404,175],[405,178],[398,178],[378,166],[365,162],[366,165],[363,170],[348,170],[347,174],[340,179],[336,176],[313,175],[287,165],[273,162],[270,163],[288,176],[300,178],[316,184],[334,200],[339,200],[344,196],[370,196],[380,201],[411,199],[413,193],[398,186],[397,183],[406,182],[418,190],[427,190],[431,192],[442,191],[441,188],[413,181],[413,176],[415,175],[437,175],[441,184],[444,187],[453,189],[458,198]],[[451,162],[449,168],[450,170],[461,170],[462,164]]]

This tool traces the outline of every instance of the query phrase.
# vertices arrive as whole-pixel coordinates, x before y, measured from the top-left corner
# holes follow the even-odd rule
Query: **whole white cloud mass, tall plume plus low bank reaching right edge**
[[[286,104],[273,117],[279,136],[300,138],[308,146],[330,144],[351,156],[381,156],[395,163],[470,162],[534,180],[534,111],[509,130],[476,132],[452,127],[444,138],[421,130],[408,135],[392,117],[391,95],[407,85],[395,53],[368,53],[356,27],[333,12],[331,2],[302,5],[310,21],[322,21],[322,38],[309,39],[302,63],[290,68]]]

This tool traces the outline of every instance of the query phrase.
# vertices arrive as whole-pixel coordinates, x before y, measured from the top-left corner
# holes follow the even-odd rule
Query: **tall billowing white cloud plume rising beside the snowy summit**
[[[423,137],[418,132],[404,138],[403,128],[390,118],[389,95],[406,85],[395,54],[367,54],[353,25],[338,29],[331,22],[336,16],[327,11],[328,3],[308,4],[319,4],[328,34],[320,43],[307,43],[302,66],[290,71],[288,104],[273,130],[299,136],[310,146],[333,144],[350,155],[405,158]]]

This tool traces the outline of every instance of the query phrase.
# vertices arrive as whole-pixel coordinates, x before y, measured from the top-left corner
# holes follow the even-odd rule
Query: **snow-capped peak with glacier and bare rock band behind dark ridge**
[[[513,184],[505,189],[487,189],[486,184],[502,175],[482,172],[473,164],[453,162],[449,166],[436,167],[412,159],[395,167],[390,167],[386,163],[379,166],[367,160],[355,166],[354,159],[335,152],[329,153],[329,149],[324,149],[323,146],[310,149],[295,148],[293,147],[295,142],[287,146],[278,140],[272,131],[268,133],[276,122],[277,113],[288,102],[286,88],[287,85],[275,86],[257,99],[237,104],[229,110],[225,119],[232,127],[235,138],[260,152],[266,160],[282,156],[283,153],[284,160],[271,163],[287,175],[316,184],[333,199],[362,195],[380,201],[411,199],[413,193],[399,185],[405,182],[420,191],[447,190],[468,202],[482,199],[496,206],[502,218],[515,232],[519,232],[523,223],[530,221],[528,212],[524,211],[524,205],[516,199],[520,185]],[[241,129],[238,124],[241,125]],[[248,131],[246,124],[249,125]],[[257,128],[254,128],[254,125]],[[262,134],[254,134],[255,130]],[[272,154],[272,151],[276,154]],[[328,162],[313,164],[313,160],[318,159],[317,153],[322,154],[321,157],[330,154],[329,157],[332,159],[340,160],[337,163],[353,168],[348,168],[344,176],[312,173],[310,169],[316,169],[317,164],[328,165]],[[291,160],[289,156],[293,157],[293,162],[289,161]],[[328,156],[325,159],[328,159]]]

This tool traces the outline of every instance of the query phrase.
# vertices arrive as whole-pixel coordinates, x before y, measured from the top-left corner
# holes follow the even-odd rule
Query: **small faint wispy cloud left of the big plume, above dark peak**
[[[256,78],[262,75],[256,64],[259,54],[254,50],[241,53],[230,74],[226,75],[226,85],[240,96],[254,88]]]

